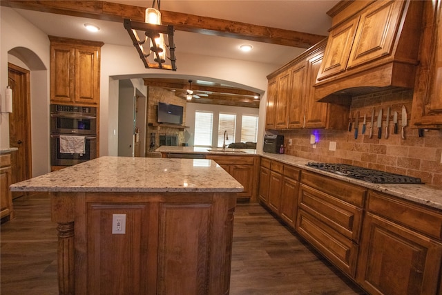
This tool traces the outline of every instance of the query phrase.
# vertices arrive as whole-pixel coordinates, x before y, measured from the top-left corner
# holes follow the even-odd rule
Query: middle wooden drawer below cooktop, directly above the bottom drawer
[[[339,234],[359,241],[363,209],[301,184],[298,208],[325,222]]]

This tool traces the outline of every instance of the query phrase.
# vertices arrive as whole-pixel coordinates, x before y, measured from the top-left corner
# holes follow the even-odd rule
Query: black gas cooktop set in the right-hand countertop
[[[311,166],[323,171],[336,173],[338,175],[347,176],[372,183],[383,184],[422,184],[421,178],[414,178],[411,176],[378,171],[358,166],[347,164],[332,164],[332,163],[318,163],[309,162],[307,166]]]

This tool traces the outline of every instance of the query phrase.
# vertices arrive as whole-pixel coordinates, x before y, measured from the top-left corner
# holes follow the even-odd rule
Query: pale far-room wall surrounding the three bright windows
[[[189,146],[193,146],[193,135],[195,133],[195,111],[211,111],[213,112],[213,130],[212,130],[212,147],[218,146],[218,122],[220,113],[234,113],[236,114],[236,135],[235,142],[241,140],[241,124],[242,115],[258,115],[258,108],[242,108],[238,106],[218,106],[214,104],[186,104],[186,122],[185,125],[189,126],[184,131],[184,140]],[[259,121],[262,120],[261,118]],[[231,135],[229,135],[231,137]],[[259,134],[258,134],[259,138]]]

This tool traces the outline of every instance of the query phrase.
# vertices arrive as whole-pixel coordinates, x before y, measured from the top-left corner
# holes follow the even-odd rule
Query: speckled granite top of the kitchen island
[[[240,192],[213,160],[102,157],[18,182],[11,191]]]

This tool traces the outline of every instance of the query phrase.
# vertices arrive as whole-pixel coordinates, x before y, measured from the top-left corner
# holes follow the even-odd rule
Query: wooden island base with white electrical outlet
[[[75,265],[74,275],[61,272],[60,294],[229,294],[236,193],[52,198],[52,220],[75,220],[75,239],[66,240],[59,227],[59,245],[75,248],[59,252],[59,262]],[[115,214],[126,218],[117,234]]]

